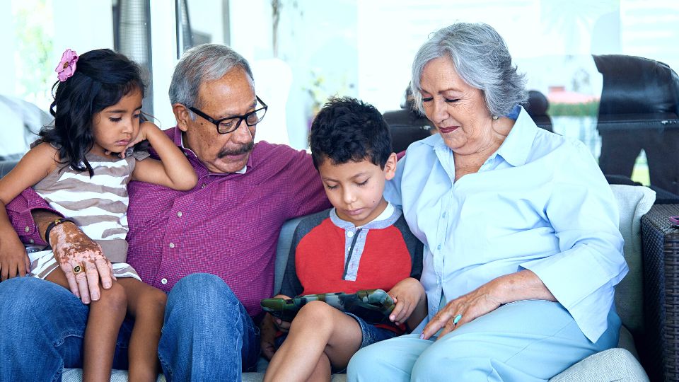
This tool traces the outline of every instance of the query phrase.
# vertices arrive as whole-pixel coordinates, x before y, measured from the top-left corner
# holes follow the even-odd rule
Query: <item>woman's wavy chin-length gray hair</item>
[[[526,76],[511,64],[509,50],[492,26],[455,23],[437,30],[415,55],[411,88],[414,107],[424,113],[420,79],[427,62],[450,57],[463,81],[483,91],[491,115],[507,115],[515,105],[526,103]]]

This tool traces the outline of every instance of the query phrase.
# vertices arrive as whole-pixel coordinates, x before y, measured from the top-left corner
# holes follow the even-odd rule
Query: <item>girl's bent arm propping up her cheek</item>
[[[191,190],[198,183],[198,177],[191,163],[182,151],[170,141],[168,136],[151,122],[144,122],[139,127],[137,139],[130,142],[133,146],[144,139],[148,139],[156,150],[160,161],[147,158],[137,162],[132,172],[132,180],[153,183],[173,188],[175,190]]]

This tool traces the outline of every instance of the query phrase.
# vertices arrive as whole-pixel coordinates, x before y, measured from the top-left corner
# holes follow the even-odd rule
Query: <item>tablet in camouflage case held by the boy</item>
[[[342,292],[308,294],[294,299],[263,299],[260,305],[272,316],[290,322],[299,309],[309,301],[325,301],[340,311],[352,313],[373,324],[388,322],[389,313],[395,306],[391,297],[382,289],[368,289],[352,294]]]

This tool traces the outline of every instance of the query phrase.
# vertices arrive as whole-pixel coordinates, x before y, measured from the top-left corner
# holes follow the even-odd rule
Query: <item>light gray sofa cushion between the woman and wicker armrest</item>
[[[627,276],[615,287],[615,306],[622,323],[636,337],[644,329],[641,219],[651,209],[656,193],[644,186],[610,185],[610,189],[620,212],[620,233],[629,267]]]

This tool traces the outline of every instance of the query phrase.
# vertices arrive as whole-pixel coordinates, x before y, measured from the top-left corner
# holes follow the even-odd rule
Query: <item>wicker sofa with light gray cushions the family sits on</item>
[[[0,162],[0,176],[14,164],[16,162]],[[673,339],[674,333],[679,332],[679,319],[669,316],[679,316],[679,301],[675,297],[679,296],[679,282],[673,282],[674,277],[679,279],[679,276],[668,275],[667,270],[668,265],[679,265],[679,228],[668,221],[668,216],[679,215],[679,204],[654,206],[655,192],[644,186],[610,187],[620,212],[620,232],[625,238],[625,259],[629,265],[629,273],[617,286],[615,295],[623,323],[620,342],[617,348],[593,354],[551,381],[632,382],[649,381],[649,376],[651,381],[679,381],[679,338],[677,345]],[[299,220],[287,221],[280,233],[272,294],[280,288],[292,234]],[[642,223],[645,223],[644,232]],[[674,243],[669,249],[666,238]],[[673,272],[676,271],[673,269]],[[267,361],[260,359],[258,372],[243,374],[243,381],[262,381],[266,366]],[[81,375],[80,369],[64,369],[63,381],[81,381]],[[219,380],[219,376],[215,378]],[[345,380],[344,374],[332,378],[334,382]],[[127,372],[113,371],[111,381],[127,381]],[[165,378],[161,375],[158,381]]]

